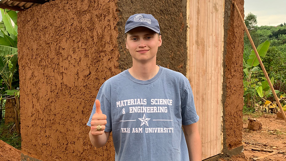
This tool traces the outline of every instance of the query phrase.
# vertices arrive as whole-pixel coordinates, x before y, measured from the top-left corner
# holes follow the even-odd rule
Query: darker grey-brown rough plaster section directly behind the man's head
[[[186,75],[186,0],[120,0],[117,6],[120,18],[117,23],[120,51],[119,68],[123,71],[132,66],[132,57],[125,45],[126,20],[135,13],[147,13],[152,14],[159,21],[162,35],[162,46],[158,49],[157,64]]]

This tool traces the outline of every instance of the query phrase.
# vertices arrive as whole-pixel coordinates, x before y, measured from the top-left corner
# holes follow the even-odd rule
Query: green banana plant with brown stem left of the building
[[[17,71],[18,63],[17,12],[7,9],[0,9],[0,11],[2,15],[2,22],[0,23],[0,75],[7,86],[5,98],[13,98],[14,96],[16,100],[16,105],[14,106],[15,124],[17,133],[20,134],[19,90],[14,89],[12,86],[14,81],[13,75]],[[2,100],[2,95],[0,100]]]

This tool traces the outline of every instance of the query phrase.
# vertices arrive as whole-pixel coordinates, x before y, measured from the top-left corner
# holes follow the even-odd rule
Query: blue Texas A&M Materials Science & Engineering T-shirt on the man
[[[125,70],[104,82],[96,99],[107,116],[105,131],[112,131],[116,161],[189,160],[182,125],[199,117],[181,73],[160,66],[142,81]],[[88,126],[95,110],[94,104]]]

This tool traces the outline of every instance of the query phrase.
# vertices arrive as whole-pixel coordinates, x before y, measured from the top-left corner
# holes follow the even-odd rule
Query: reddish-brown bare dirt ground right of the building
[[[255,118],[262,124],[262,128],[257,131],[247,129],[248,118]],[[276,114],[255,114],[243,116],[243,145],[244,154],[248,160],[253,158],[271,154],[271,152],[263,152],[252,150],[252,148],[280,151],[260,161],[283,161],[286,160],[286,123],[282,119],[277,119]]]

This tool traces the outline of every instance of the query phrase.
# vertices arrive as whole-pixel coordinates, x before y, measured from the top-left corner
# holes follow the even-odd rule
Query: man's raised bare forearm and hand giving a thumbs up
[[[106,115],[102,114],[102,111],[100,109],[100,101],[95,100],[96,105],[96,111],[95,114],[92,116],[92,120],[90,122],[90,142],[93,146],[96,148],[100,148],[104,146],[109,138],[110,132],[105,132],[105,125],[107,123],[106,121]],[[101,131],[97,130],[97,126],[101,125]]]

